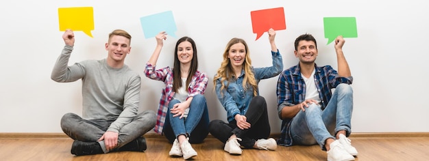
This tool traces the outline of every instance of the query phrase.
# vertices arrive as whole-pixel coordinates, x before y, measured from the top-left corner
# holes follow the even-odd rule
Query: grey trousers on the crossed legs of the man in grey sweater
[[[61,119],[62,131],[73,138],[73,140],[84,142],[97,142],[101,136],[109,128],[110,124],[115,120],[101,120],[101,119],[82,119],[74,113],[66,113]],[[144,111],[139,113],[132,119],[130,123],[123,126],[119,130],[118,145],[115,149],[119,149],[130,143],[134,139],[143,136],[155,127],[156,115],[154,111]],[[104,153],[108,153],[104,141],[98,141]]]

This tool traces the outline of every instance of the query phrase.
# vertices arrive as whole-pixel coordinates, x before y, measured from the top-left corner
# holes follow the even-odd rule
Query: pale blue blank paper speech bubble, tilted
[[[160,31],[165,31],[167,34],[176,37],[175,31],[177,27],[175,25],[173,12],[161,12],[158,14],[151,14],[140,18],[140,23],[145,33],[145,38],[153,38]]]

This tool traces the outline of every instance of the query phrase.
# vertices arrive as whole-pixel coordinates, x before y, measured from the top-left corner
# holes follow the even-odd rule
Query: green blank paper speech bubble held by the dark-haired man
[[[343,35],[343,38],[358,38],[355,17],[325,17],[323,18],[323,24],[328,44],[333,42],[339,35]]]

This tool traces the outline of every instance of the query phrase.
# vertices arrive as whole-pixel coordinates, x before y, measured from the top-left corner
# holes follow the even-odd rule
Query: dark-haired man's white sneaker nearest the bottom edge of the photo
[[[343,145],[336,140],[330,145],[330,150],[326,151],[328,153],[328,161],[348,161],[354,160],[354,157],[345,151]]]

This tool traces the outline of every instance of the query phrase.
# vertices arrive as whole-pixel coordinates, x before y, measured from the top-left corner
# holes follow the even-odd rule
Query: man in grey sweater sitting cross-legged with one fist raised
[[[117,29],[106,43],[108,57],[68,65],[75,37],[62,35],[65,46],[53,67],[51,79],[66,83],[82,79],[83,115],[66,113],[61,119],[65,134],[75,140],[76,156],[110,151],[145,151],[143,134],[154,128],[154,111],[138,113],[140,76],[125,65],[130,53],[131,35]]]

